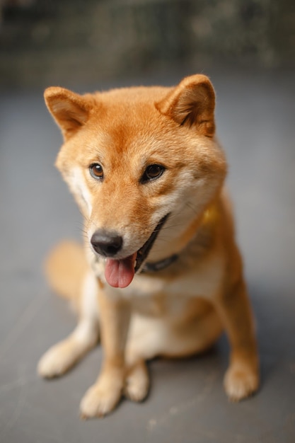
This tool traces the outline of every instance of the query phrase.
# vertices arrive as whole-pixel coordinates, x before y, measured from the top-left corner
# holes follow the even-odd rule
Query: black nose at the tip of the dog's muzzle
[[[105,257],[113,257],[122,248],[123,238],[115,232],[99,230],[91,237],[93,249]]]

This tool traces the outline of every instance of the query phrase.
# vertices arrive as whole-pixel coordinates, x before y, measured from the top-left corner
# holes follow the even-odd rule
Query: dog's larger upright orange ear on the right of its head
[[[156,108],[179,125],[197,127],[198,132],[213,137],[215,132],[214,88],[207,76],[197,74],[185,77],[172,89]]]

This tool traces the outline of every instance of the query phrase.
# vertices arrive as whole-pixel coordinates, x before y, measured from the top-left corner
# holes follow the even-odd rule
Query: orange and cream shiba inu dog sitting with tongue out
[[[40,359],[39,374],[64,374],[100,335],[103,365],[81,415],[103,416],[123,394],[146,397],[147,359],[202,352],[225,329],[225,391],[233,401],[252,394],[253,316],[207,76],[83,96],[52,87],[45,101],[64,137],[57,168],[86,235],[84,248],[62,243],[47,261],[52,287],[75,301],[79,323]]]

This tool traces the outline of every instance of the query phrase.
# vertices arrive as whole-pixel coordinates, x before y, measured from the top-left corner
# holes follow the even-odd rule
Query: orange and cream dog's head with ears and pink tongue
[[[195,75],[175,88],[84,96],[52,87],[45,101],[64,137],[57,168],[85,215],[88,241],[106,258],[106,280],[126,287],[148,254],[161,260],[185,246],[221,189],[212,84]]]

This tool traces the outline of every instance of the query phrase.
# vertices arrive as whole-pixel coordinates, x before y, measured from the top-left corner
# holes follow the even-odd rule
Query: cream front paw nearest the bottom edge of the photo
[[[80,403],[81,418],[103,417],[110,413],[121,398],[122,389],[103,387],[101,383],[93,384],[83,396]]]

